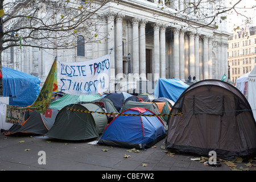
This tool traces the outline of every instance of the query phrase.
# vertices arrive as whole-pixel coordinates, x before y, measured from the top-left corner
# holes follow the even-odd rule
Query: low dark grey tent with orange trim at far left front
[[[32,111],[22,126],[13,125],[8,131],[6,131],[5,135],[20,133],[44,135],[49,131],[49,129],[51,129],[58,112],[59,111],[55,109],[47,109],[45,114]]]

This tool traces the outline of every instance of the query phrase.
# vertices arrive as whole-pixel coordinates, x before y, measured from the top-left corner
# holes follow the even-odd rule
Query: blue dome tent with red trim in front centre
[[[154,114],[134,107],[123,114]],[[123,148],[148,148],[165,137],[164,124],[158,117],[118,115],[106,127],[98,144]]]

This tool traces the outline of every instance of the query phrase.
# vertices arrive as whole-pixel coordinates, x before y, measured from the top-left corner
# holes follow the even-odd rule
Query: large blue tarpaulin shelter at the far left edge
[[[3,97],[9,105],[26,107],[33,104],[40,93],[40,79],[15,69],[3,67]]]

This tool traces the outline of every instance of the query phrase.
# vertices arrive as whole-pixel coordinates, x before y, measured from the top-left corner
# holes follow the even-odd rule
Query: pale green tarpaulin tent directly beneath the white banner
[[[65,94],[61,98],[52,101],[49,105],[49,108],[60,110],[63,107],[69,104],[78,104],[79,102],[91,102],[101,98],[100,94],[92,94],[92,95],[85,95],[85,96],[76,96],[71,94]]]

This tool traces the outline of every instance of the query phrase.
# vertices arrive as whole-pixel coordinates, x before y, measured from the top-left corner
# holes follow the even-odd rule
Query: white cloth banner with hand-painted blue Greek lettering
[[[61,92],[88,95],[109,89],[110,55],[76,63],[60,62],[58,70]]]

